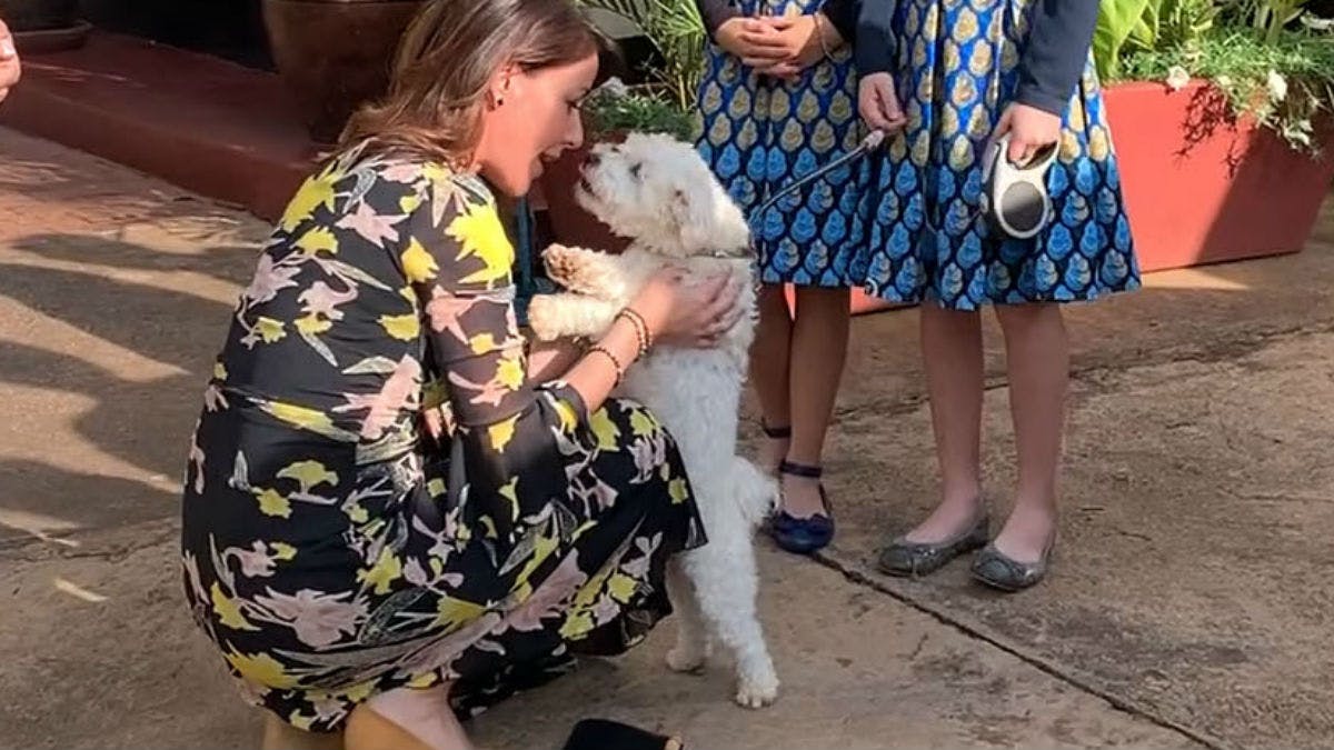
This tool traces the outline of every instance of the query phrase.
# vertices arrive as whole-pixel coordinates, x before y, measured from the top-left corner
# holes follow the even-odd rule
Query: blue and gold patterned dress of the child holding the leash
[[[979,215],[982,157],[1014,99],[1037,0],[902,0],[895,83],[908,117],[868,180],[855,276],[891,302],[952,310],[1091,300],[1139,287],[1117,160],[1091,61],[1047,177],[1054,218],[1027,242]]]

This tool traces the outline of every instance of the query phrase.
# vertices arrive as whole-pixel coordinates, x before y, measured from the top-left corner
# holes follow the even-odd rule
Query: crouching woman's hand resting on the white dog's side
[[[644,284],[631,307],[659,342],[708,348],[746,314],[736,304],[740,294],[740,286],[727,275],[686,283],[682,270],[664,268]]]

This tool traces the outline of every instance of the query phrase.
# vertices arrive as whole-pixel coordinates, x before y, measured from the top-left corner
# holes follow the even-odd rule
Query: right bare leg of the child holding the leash
[[[1070,344],[1057,304],[996,306],[996,318],[1006,340],[1019,486],[1014,511],[995,544],[1013,559],[1035,562],[1057,526]]]

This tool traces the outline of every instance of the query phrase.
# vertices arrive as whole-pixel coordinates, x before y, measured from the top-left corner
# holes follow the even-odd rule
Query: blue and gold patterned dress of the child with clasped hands
[[[732,0],[744,15],[804,15],[823,0]],[[784,198],[755,216],[775,191],[846,151],[860,137],[856,73],[844,47],[834,61],[795,81],[760,76],[715,44],[699,89],[699,152],[751,220],[760,280],[816,287],[851,286],[854,215],[860,192],[854,168]]]

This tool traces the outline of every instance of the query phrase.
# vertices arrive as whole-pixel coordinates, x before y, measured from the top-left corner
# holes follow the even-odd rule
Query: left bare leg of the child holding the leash
[[[982,316],[931,302],[922,304],[920,315],[940,504],[907,539],[931,543],[967,528],[980,510]]]

